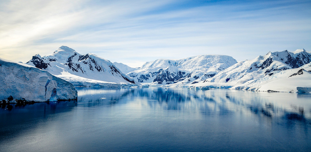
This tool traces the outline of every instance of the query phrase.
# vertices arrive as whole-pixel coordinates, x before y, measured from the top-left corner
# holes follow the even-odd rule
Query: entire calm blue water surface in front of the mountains
[[[0,109],[0,151],[310,151],[311,94],[77,88]]]

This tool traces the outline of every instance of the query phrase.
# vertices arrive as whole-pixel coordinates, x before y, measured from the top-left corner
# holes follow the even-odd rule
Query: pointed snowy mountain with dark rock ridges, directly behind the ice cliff
[[[92,53],[80,55],[67,46],[61,46],[51,55],[35,55],[27,64],[46,70],[75,86],[137,86],[133,78],[122,73],[109,60]]]

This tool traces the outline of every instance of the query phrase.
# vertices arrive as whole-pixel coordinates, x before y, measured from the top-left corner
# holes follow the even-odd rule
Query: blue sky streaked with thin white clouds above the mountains
[[[311,1],[3,0],[0,58],[29,61],[60,46],[131,67],[220,54],[237,61],[311,51]]]

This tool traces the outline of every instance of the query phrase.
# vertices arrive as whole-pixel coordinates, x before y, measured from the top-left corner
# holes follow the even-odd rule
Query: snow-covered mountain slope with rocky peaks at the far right
[[[309,65],[311,53],[304,49],[294,52],[269,52],[253,60],[244,60],[219,72],[213,78],[195,86],[231,88],[256,91],[303,92],[297,87],[311,87]],[[308,69],[304,75],[289,77],[297,71]],[[194,86],[194,85],[193,85]]]

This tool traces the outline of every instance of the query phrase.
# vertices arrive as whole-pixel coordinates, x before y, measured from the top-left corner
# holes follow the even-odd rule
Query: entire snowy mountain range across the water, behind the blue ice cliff
[[[157,59],[132,68],[91,53],[81,55],[67,46],[51,55],[35,55],[27,62],[75,86],[151,85],[285,92],[311,89],[310,63],[311,52],[299,49],[268,52],[240,62],[227,55],[199,55],[178,60]]]

